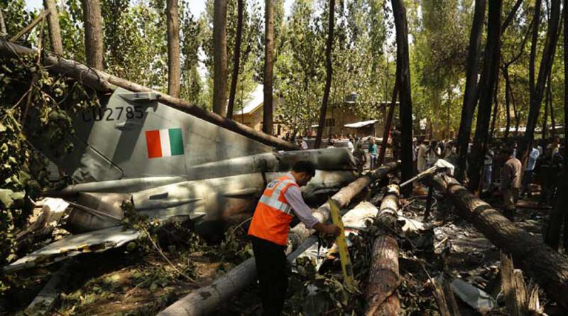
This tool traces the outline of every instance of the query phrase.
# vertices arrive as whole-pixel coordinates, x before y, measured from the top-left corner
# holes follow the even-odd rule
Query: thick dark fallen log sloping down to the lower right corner
[[[460,217],[474,224],[493,244],[513,256],[550,298],[568,308],[567,256],[558,254],[540,239],[510,222],[454,178],[436,175],[432,177],[432,184],[449,197]]]

